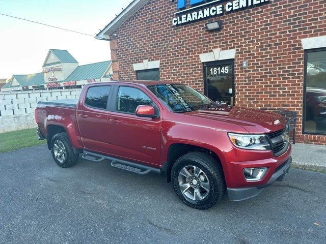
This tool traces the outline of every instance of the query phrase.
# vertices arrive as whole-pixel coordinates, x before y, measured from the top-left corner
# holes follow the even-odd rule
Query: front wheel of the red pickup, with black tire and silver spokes
[[[181,201],[197,209],[212,207],[225,193],[221,165],[204,153],[193,152],[180,157],[172,167],[171,178]]]

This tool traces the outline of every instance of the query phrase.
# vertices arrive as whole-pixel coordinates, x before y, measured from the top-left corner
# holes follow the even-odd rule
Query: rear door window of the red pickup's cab
[[[111,86],[94,86],[88,89],[85,104],[94,108],[106,109]]]

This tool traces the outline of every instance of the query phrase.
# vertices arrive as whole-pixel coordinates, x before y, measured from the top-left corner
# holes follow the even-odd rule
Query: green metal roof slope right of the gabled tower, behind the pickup
[[[103,76],[111,61],[78,66],[65,81],[99,79]]]

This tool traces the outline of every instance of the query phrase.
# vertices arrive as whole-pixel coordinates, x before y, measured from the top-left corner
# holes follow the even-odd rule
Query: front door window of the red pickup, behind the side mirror
[[[152,100],[141,90],[120,86],[117,98],[117,111],[135,113],[138,105],[152,105]]]

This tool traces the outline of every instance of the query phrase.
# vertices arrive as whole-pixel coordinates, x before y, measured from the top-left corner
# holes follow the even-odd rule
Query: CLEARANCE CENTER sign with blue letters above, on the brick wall
[[[171,0],[174,2],[174,0]],[[266,4],[269,0],[233,0],[226,2],[225,0],[205,1],[205,0],[177,0],[178,15],[172,19],[173,25],[191,23],[196,20],[205,19],[213,16],[223,15],[245,8],[253,8],[261,4]],[[187,8],[187,2],[191,8]],[[226,2],[223,3],[222,2]],[[198,9],[201,10],[198,11]]]

